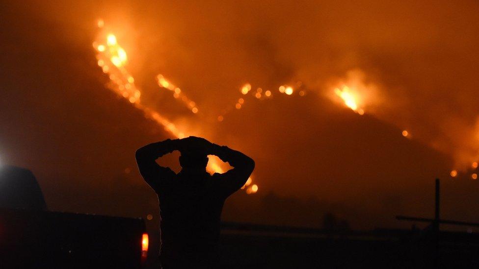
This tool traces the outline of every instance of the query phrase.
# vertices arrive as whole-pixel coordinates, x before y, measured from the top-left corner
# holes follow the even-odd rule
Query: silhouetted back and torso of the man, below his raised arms
[[[218,176],[179,173],[160,192],[162,250],[212,245],[219,240],[220,217],[226,197]]]

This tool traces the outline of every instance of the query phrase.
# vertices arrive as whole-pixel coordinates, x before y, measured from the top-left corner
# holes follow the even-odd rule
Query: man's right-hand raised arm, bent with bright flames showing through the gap
[[[254,170],[255,163],[250,157],[226,146],[212,144],[209,151],[233,167],[233,169],[220,175],[221,191],[225,196],[230,196],[246,183]]]

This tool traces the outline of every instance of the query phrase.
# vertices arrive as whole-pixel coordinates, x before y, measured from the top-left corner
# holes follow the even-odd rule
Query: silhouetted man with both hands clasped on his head
[[[173,150],[181,152],[178,174],[156,163]],[[210,175],[208,155],[218,156],[233,169]],[[136,162],[160,200],[162,267],[211,268],[224,201],[244,185],[254,161],[239,151],[190,136],[142,147],[136,151]]]

